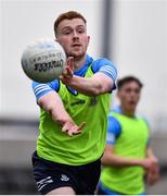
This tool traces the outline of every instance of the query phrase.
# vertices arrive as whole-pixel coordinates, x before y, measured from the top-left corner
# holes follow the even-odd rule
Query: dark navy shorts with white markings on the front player
[[[101,172],[100,159],[88,164],[68,166],[52,162],[33,154],[34,175],[39,193],[69,186],[77,195],[94,195]]]

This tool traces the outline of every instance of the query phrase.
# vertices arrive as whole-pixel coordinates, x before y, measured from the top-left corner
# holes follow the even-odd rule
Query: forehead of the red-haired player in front
[[[72,20],[65,19],[65,20],[61,21],[61,23],[59,24],[57,30],[63,30],[65,28],[76,28],[79,26],[86,27],[86,24],[81,19],[79,19],[79,17],[72,19]]]

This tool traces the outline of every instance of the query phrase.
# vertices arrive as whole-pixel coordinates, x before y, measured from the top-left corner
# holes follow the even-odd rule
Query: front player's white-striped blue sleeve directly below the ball
[[[48,94],[49,91],[57,91],[60,88],[60,82],[57,79],[54,79],[51,83],[33,82],[31,87],[36,96],[36,99],[38,100],[40,97]]]

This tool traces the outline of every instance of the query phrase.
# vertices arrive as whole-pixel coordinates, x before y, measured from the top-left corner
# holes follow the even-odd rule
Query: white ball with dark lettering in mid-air
[[[55,40],[38,39],[23,51],[21,62],[30,79],[48,83],[62,74],[66,56],[62,46]]]

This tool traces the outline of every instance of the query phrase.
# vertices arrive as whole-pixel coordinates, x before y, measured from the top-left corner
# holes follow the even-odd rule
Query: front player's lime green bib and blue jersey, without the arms
[[[116,68],[106,59],[93,59],[87,56],[86,64],[75,75],[91,77],[101,72],[115,82]],[[41,109],[37,154],[47,160],[70,166],[80,166],[99,159],[104,150],[107,130],[107,113],[111,93],[99,96],[86,96],[54,79],[48,84],[33,82],[37,100],[48,91],[55,90],[64,107],[76,124],[86,122],[81,134],[69,137],[62,127]],[[111,89],[112,91],[113,89]]]

